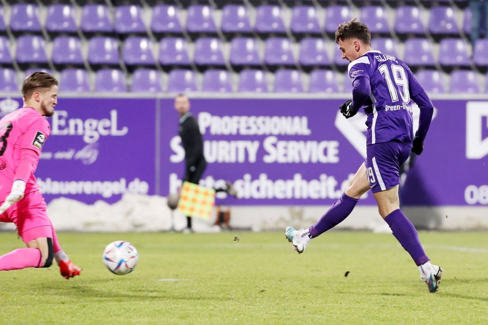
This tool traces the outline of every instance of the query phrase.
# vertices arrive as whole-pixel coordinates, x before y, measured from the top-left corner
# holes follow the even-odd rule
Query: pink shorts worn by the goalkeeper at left
[[[27,193],[24,198],[0,215],[0,221],[13,222],[25,243],[41,238],[52,238],[51,220],[40,191]]]

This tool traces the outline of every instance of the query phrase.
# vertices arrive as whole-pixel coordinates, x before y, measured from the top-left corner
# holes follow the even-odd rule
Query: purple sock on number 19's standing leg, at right
[[[412,256],[417,266],[430,261],[430,258],[428,258],[422,248],[417,229],[415,229],[412,222],[403,214],[402,210],[397,209],[388,214],[385,217],[385,221],[405,251]]]

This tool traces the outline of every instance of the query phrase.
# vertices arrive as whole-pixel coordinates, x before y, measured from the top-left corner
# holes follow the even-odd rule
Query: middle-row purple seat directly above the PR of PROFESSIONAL
[[[224,67],[222,42],[217,37],[202,37],[195,42],[194,62],[197,67]]]

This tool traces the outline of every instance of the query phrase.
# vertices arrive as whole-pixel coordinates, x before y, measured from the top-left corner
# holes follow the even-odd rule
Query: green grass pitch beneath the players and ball
[[[483,232],[420,233],[427,254],[444,268],[438,293],[428,292],[391,234],[329,232],[301,255],[282,232],[59,237],[82,275],[65,280],[57,266],[0,272],[0,322],[488,323]],[[125,276],[102,263],[103,249],[118,239],[132,242],[140,255]],[[21,245],[14,233],[0,233],[0,253]]]

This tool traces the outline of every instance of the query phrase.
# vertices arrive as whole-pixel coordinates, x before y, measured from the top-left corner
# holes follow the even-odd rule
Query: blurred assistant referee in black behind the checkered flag
[[[178,94],[174,98],[174,108],[180,114],[180,127],[178,134],[185,150],[185,175],[183,181],[198,184],[207,167],[207,161],[203,154],[203,137],[200,133],[197,119],[190,113],[190,100],[185,94]],[[237,196],[236,190],[231,182],[226,182],[224,189],[215,189],[216,192],[227,192],[229,195]],[[185,233],[193,232],[191,227],[191,216],[186,217],[187,228]]]

